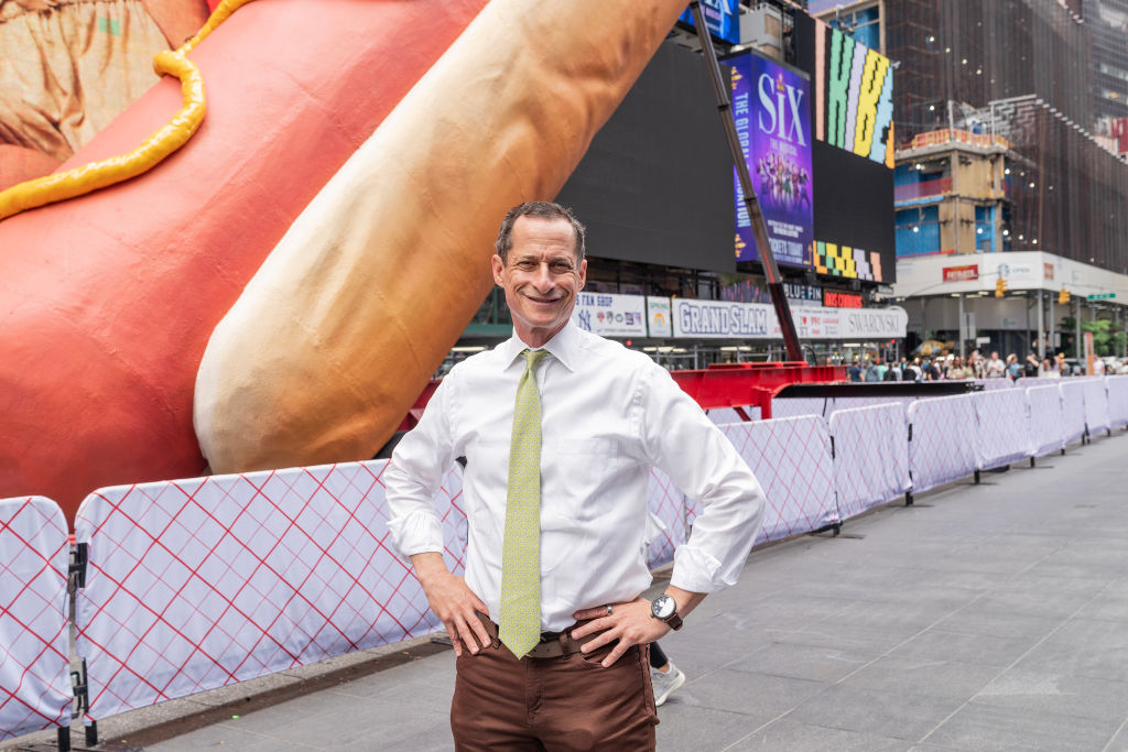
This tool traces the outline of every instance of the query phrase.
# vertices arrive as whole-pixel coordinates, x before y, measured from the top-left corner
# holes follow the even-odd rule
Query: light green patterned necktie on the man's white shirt
[[[517,384],[509,446],[499,625],[501,642],[519,658],[540,642],[540,391],[536,370],[545,351],[521,354],[526,365]]]

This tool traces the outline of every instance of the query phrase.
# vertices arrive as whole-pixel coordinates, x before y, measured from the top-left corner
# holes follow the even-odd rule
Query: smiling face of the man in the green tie
[[[505,290],[518,335],[539,347],[571,318],[588,262],[576,263],[572,223],[565,219],[520,216],[512,241],[506,260],[494,254],[494,282]]]

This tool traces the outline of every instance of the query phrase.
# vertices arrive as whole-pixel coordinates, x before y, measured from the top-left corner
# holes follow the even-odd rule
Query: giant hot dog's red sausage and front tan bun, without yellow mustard
[[[73,516],[99,486],[370,458],[487,292],[503,212],[555,196],[684,6],[240,8],[190,54],[187,143],[0,221],[0,496]],[[161,80],[60,169],[179,106]]]

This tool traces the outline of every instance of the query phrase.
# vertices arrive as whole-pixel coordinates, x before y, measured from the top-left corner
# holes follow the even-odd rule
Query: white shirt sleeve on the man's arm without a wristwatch
[[[404,558],[443,549],[442,522],[435,512],[434,496],[455,459],[450,431],[453,389],[450,377],[439,384],[418,425],[396,445],[384,471],[390,512],[388,530]]]

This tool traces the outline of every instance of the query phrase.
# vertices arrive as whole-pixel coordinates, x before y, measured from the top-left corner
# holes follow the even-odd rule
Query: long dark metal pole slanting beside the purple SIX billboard
[[[799,346],[799,333],[795,330],[795,321],[791,318],[791,306],[787,303],[787,297],[783,293],[783,277],[779,276],[779,267],[776,265],[775,256],[772,254],[768,225],[764,221],[760,202],[757,201],[756,191],[752,188],[752,178],[748,174],[744,151],[740,148],[740,139],[737,138],[737,124],[729,113],[731,109],[729,87],[725,86],[724,79],[721,78],[721,67],[716,62],[713,39],[710,38],[708,27],[705,25],[705,11],[702,10],[700,2],[697,0],[690,2],[689,8],[694,14],[697,38],[700,41],[705,67],[708,69],[710,81],[713,83],[713,92],[716,95],[716,109],[721,115],[721,123],[724,125],[724,133],[729,139],[732,160],[737,166],[740,189],[744,194],[744,206],[748,207],[748,218],[752,222],[752,232],[756,235],[756,245],[760,251],[760,262],[764,266],[764,275],[767,277],[768,291],[772,293],[772,304],[775,306],[776,319],[779,320],[779,330],[783,333],[783,343],[787,350],[787,360],[802,361],[803,351]]]

